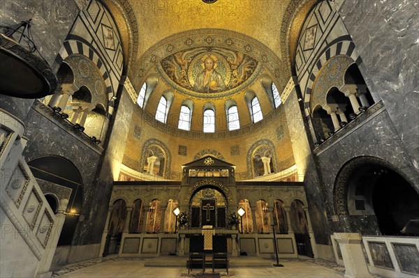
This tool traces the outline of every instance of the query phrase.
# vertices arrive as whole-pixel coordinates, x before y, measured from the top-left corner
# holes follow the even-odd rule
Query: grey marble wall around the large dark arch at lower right
[[[411,164],[409,150],[402,143],[392,119],[387,111],[373,115],[369,121],[358,125],[340,141],[326,149],[318,157],[319,174],[325,185],[325,199],[328,211],[334,211],[334,186],[339,170],[355,157],[378,157],[392,164],[397,171],[406,177],[409,183],[419,191],[419,176]],[[307,198],[309,193],[307,192]],[[375,216],[340,216],[339,221],[331,222],[334,232],[358,232],[379,234]]]

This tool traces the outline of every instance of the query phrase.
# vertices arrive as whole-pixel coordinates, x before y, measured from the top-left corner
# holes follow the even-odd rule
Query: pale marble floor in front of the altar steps
[[[177,277],[193,277],[193,278],[337,278],[344,277],[344,268],[335,263],[327,261],[314,260],[311,258],[298,259],[282,259],[281,263],[284,268],[229,268],[229,275],[226,270],[217,269],[215,275],[212,270],[207,269],[205,275],[202,270],[193,270],[188,275],[186,268],[173,267],[145,267],[147,258],[94,258],[89,261],[67,265],[64,268],[54,271],[52,277],[129,277],[129,278],[177,278]],[[274,260],[271,260],[274,263]]]

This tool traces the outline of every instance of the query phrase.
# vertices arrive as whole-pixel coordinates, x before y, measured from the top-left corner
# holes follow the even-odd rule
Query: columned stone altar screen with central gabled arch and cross
[[[276,242],[280,258],[296,258],[302,247],[316,252],[307,211],[303,183],[236,182],[235,165],[202,157],[182,166],[179,181],[114,182],[99,254],[188,256],[191,236],[210,225],[227,235],[230,257],[274,258]]]

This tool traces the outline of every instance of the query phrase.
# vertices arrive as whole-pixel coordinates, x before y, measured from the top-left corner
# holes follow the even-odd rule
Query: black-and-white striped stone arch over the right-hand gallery
[[[316,63],[313,63],[313,68],[311,69],[309,81],[307,82],[307,87],[304,94],[304,112],[307,118],[310,118],[310,98],[314,81],[316,80],[318,72],[323,67],[323,65],[338,55],[346,55],[351,57],[351,59],[353,59],[353,61],[355,61],[358,66],[360,66],[362,63],[361,56],[355,48],[355,43],[353,43],[351,40],[341,40],[342,38],[346,38],[346,36],[338,38],[335,42],[332,42],[330,47],[325,48],[321,55],[318,56]]]

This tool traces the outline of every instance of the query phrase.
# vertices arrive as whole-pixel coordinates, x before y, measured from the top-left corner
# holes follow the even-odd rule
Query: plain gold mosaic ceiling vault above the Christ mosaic
[[[124,50],[128,53],[128,59],[131,59],[128,75],[135,88],[139,88],[145,81],[145,74],[151,68],[150,64],[157,66],[163,59],[179,50],[176,49],[176,45],[172,47],[173,44],[170,44],[170,40],[179,40],[178,34],[183,36],[186,42],[189,32],[195,36],[197,33],[205,36],[208,32],[210,40],[216,43],[214,33],[220,30],[223,40],[231,37],[234,41],[233,37],[237,35],[242,43],[249,38],[248,44],[242,43],[242,50],[245,50],[244,47],[251,47],[251,51],[252,48],[267,48],[265,52],[269,53],[265,56],[267,60],[272,61],[263,61],[262,54],[256,56],[251,51],[247,54],[262,62],[264,66],[265,62],[276,64],[275,67],[271,65],[266,68],[272,73],[281,90],[291,76],[291,59],[284,57],[284,54],[293,52],[293,43],[288,43],[288,40],[297,37],[302,20],[316,0],[218,0],[210,4],[201,0],[104,1],[122,30]],[[129,32],[129,36],[126,36],[126,31]],[[284,40],[287,40],[285,44]],[[195,44],[191,47],[212,46],[205,38],[200,45],[197,45],[196,40],[193,42]],[[256,47],[255,42],[258,44]],[[165,49],[173,49],[156,54],[156,49],[163,45]],[[186,86],[193,86],[193,79],[189,77],[188,82]]]

